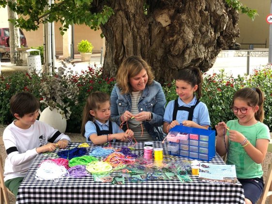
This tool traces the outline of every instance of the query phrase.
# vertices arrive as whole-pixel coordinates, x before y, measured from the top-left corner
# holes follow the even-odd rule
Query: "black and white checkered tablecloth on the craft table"
[[[72,143],[76,147],[79,143]],[[113,147],[127,146],[125,143],[115,143]],[[90,152],[94,147],[90,144]],[[137,143],[133,153],[143,154],[144,143]],[[153,147],[163,147],[164,158],[169,157],[167,143],[154,142]],[[177,157],[181,160],[181,157]],[[17,204],[81,204],[81,203],[192,203],[192,204],[243,204],[242,185],[210,184],[198,182],[197,176],[191,176],[193,182],[181,183],[179,180],[150,180],[142,183],[126,181],[123,185],[94,182],[92,176],[82,178],[65,178],[58,181],[42,181],[35,178],[39,164],[49,159],[39,154],[19,187]],[[187,158],[186,158],[187,159]],[[216,153],[209,161],[214,164],[224,164]]]

